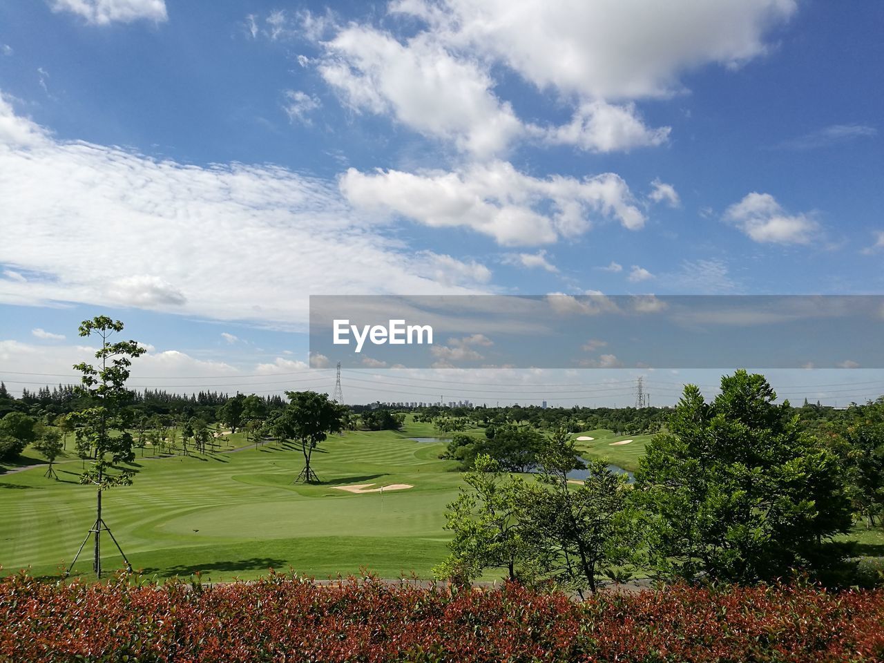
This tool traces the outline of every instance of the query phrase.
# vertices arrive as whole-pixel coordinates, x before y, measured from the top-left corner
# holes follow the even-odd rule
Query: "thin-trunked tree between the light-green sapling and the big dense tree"
[[[568,473],[584,461],[565,429],[546,440],[537,460],[537,484],[522,498],[523,536],[536,573],[581,596],[587,587],[597,591],[601,575],[622,580],[615,569],[629,563],[636,544],[626,477],[603,461],[589,461],[587,477],[572,483]]]

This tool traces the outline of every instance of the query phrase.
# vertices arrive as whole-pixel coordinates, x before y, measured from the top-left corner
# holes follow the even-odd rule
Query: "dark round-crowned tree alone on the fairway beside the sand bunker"
[[[273,431],[280,440],[292,440],[301,446],[304,469],[295,479],[312,484],[318,482],[316,472],[310,468],[310,457],[316,446],[329,433],[344,429],[347,407],[329,400],[328,394],[317,392],[286,392],[289,403],[274,420]]]

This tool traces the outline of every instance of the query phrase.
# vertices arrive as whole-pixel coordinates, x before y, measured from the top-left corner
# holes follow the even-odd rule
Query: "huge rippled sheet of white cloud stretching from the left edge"
[[[450,256],[375,232],[331,182],[276,166],[202,168],[55,141],[3,95],[0,200],[0,263],[27,275],[0,278],[6,303],[123,304],[302,325],[305,283],[328,294],[477,292],[436,280]],[[464,264],[483,280],[481,266]]]

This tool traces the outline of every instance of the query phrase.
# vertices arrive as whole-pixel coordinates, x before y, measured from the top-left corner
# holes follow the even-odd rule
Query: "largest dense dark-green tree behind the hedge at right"
[[[636,475],[652,566],[663,575],[753,582],[820,568],[850,528],[834,454],[802,432],[764,376],[738,370],[706,403],[684,388]]]

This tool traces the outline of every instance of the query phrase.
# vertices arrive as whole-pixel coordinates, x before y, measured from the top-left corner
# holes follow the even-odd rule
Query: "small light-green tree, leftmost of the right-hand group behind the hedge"
[[[472,490],[461,487],[447,507],[445,528],[454,533],[451,553],[434,574],[469,583],[486,568],[503,568],[508,579],[518,579],[533,552],[522,537],[524,481],[506,476],[487,454],[476,457],[463,480]]]

